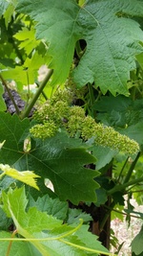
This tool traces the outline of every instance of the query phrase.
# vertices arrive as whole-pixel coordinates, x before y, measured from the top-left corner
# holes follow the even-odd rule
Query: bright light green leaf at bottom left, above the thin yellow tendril
[[[26,212],[28,199],[26,198],[24,187],[14,191],[10,189],[8,194],[3,192],[2,198],[4,211],[14,221],[17,231],[25,237],[28,236],[28,233],[36,233],[46,229],[51,230],[62,223],[62,221],[38,211],[35,207],[31,207]]]

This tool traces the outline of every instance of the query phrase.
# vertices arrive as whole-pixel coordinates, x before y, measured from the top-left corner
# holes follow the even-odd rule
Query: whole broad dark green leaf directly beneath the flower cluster
[[[70,199],[75,204],[80,200],[95,201],[98,184],[93,178],[98,173],[85,167],[94,163],[95,158],[81,141],[78,144],[66,133],[58,132],[44,141],[31,139],[31,151],[24,151],[29,126],[28,119],[21,121],[16,115],[0,114],[0,138],[1,142],[6,140],[0,151],[0,163],[9,164],[18,171],[34,171],[41,176],[38,181],[41,189],[45,186],[44,179],[49,178],[62,200]]]

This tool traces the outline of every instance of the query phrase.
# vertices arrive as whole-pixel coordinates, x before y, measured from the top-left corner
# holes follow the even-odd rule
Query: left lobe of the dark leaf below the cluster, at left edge
[[[10,113],[0,112],[0,142],[6,140],[0,151],[0,163],[11,166],[22,157],[24,139],[29,133],[29,127],[29,119],[20,121],[16,115],[11,116]]]

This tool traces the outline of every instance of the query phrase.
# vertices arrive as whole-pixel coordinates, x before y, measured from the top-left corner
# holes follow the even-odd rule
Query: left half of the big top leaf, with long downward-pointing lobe
[[[74,46],[80,38],[79,11],[74,0],[18,2],[17,12],[28,13],[38,22],[37,38],[50,42],[51,68],[55,69],[53,82],[65,81],[69,74]]]

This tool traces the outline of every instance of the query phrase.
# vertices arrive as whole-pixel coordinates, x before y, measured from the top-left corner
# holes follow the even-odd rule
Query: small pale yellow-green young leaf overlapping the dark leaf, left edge
[[[33,172],[30,171],[18,172],[14,168],[11,168],[9,165],[3,164],[0,164],[0,170],[4,172],[2,175],[9,175],[39,190],[38,186],[36,185],[36,178],[40,177],[39,175],[35,175]],[[0,177],[2,175],[0,175]]]

